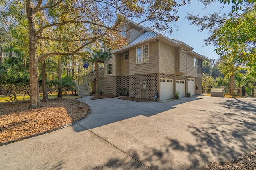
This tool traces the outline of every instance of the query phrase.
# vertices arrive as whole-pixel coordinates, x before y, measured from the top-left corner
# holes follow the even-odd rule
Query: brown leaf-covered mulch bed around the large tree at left
[[[87,104],[75,99],[53,99],[38,109],[28,105],[0,103],[0,144],[69,125],[90,113]]]

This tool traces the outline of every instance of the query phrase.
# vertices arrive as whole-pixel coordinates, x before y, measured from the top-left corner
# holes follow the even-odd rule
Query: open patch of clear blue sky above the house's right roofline
[[[204,30],[202,32],[198,31],[198,27],[194,25],[190,25],[190,21],[186,19],[187,13],[200,14],[203,16],[205,14],[212,14],[213,12],[222,11],[226,14],[231,11],[231,6],[224,6],[224,9],[221,10],[220,2],[215,2],[211,6],[208,6],[207,9],[204,9],[204,5],[197,0],[191,0],[192,3],[189,5],[182,6],[179,8],[178,15],[180,16],[179,21],[175,22],[175,25],[178,26],[178,30],[176,27],[173,27],[173,32],[171,35],[166,34],[167,37],[172,39],[178,39],[183,41],[184,43],[190,45],[194,48],[194,51],[199,53],[200,55],[206,56],[210,59],[217,59],[218,55],[215,53],[215,47],[213,45],[204,45],[204,39],[208,37],[208,30]]]

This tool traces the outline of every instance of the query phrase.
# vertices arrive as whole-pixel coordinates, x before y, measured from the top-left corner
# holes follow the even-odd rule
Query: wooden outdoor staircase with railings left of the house
[[[91,95],[91,89],[88,84],[90,82],[92,82],[92,80],[94,80],[95,78],[96,77],[95,77],[95,71],[94,71],[94,72],[90,72],[89,74],[84,76],[84,78],[82,78],[81,80],[74,80],[74,83],[76,84],[75,88],[76,88],[76,92],[77,92],[78,96],[90,96]],[[77,84],[77,82],[79,82],[79,83]]]

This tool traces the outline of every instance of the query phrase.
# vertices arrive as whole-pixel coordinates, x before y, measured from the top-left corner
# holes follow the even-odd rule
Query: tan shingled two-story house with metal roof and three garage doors
[[[202,61],[206,58],[177,39],[170,39],[131,20],[120,29],[128,46],[111,50],[99,76],[99,92],[119,95],[127,88],[130,97],[155,100],[201,94]],[[134,27],[125,32],[129,27]],[[95,91],[95,82],[93,83]]]

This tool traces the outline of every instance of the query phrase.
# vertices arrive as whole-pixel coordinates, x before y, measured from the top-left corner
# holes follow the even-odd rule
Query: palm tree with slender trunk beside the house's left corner
[[[108,58],[108,52],[103,52],[102,50],[94,50],[92,53],[92,57],[90,57],[90,61],[94,63],[95,65],[95,77],[96,77],[96,94],[99,93],[99,74],[98,74],[98,68],[99,68],[99,61],[104,61]]]

